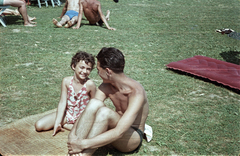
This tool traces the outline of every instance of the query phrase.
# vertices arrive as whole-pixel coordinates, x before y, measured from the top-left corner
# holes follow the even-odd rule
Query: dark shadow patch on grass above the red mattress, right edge
[[[234,63],[239,65],[240,63],[240,52],[239,51],[225,51],[220,53],[220,56],[226,61],[230,63]]]

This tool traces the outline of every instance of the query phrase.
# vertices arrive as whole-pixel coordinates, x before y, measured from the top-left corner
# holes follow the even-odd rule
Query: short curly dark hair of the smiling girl
[[[92,64],[92,69],[94,68],[95,65],[95,59],[92,54],[86,53],[84,51],[78,51],[73,57],[72,57],[72,62],[71,62],[71,67],[72,65],[76,67],[77,63],[79,61],[85,61],[86,64],[91,63]]]

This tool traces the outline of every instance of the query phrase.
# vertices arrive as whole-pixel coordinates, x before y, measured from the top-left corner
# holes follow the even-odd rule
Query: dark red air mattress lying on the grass
[[[231,88],[240,90],[240,66],[205,56],[171,62],[168,68],[181,70],[193,75],[217,81]]]

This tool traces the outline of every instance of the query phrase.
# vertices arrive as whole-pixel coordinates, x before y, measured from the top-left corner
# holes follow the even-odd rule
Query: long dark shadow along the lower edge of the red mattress
[[[190,76],[192,78],[196,78],[196,79],[199,79],[199,80],[207,82],[207,83],[212,83],[212,84],[214,84],[214,85],[216,85],[218,87],[223,87],[223,88],[226,88],[226,89],[228,89],[228,90],[230,90],[232,92],[240,94],[240,90],[239,89],[231,88],[231,87],[226,86],[224,84],[218,83],[217,81],[212,81],[212,80],[209,80],[207,78],[196,76],[196,75],[193,75],[193,74],[190,74],[190,73],[186,73],[186,72],[183,72],[183,71],[180,71],[180,70],[174,70],[174,69],[170,69],[170,68],[167,68],[167,70],[173,71],[173,72],[175,72],[177,74],[180,74],[180,75]]]

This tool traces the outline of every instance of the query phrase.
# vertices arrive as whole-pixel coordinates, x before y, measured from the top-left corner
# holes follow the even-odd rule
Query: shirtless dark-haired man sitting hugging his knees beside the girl
[[[92,155],[107,144],[121,152],[138,151],[149,112],[146,92],[123,73],[125,60],[121,51],[102,48],[97,59],[103,83],[69,133],[68,153]],[[106,98],[111,99],[115,111],[105,106]]]

